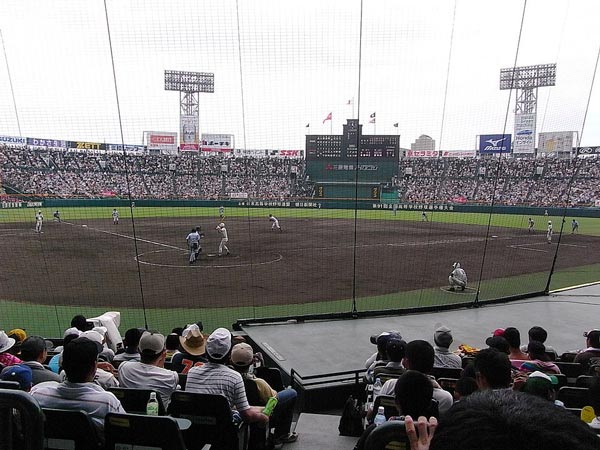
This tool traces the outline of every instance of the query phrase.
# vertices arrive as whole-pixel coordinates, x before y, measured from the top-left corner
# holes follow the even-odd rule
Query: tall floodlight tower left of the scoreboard
[[[198,151],[199,94],[215,92],[215,75],[206,72],[165,70],[165,91],[179,92],[180,150]]]

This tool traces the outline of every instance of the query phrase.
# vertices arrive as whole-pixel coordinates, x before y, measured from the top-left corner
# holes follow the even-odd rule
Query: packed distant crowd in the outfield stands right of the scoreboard
[[[597,158],[411,158],[401,161],[396,185],[410,203],[593,206],[599,177]]]

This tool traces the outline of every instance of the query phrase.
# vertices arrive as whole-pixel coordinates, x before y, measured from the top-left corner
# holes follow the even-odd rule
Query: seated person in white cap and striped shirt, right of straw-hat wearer
[[[231,332],[226,328],[217,328],[206,340],[208,362],[190,369],[185,390],[222,395],[227,398],[232,411],[238,413],[244,422],[266,426],[269,417],[262,413],[262,407],[248,403],[242,376],[226,366],[230,354]]]

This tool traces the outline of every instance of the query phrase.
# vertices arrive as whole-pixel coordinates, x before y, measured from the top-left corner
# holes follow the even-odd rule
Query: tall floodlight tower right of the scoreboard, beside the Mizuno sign
[[[513,153],[535,150],[538,88],[556,84],[556,64],[500,69],[500,90],[515,89],[515,135]]]

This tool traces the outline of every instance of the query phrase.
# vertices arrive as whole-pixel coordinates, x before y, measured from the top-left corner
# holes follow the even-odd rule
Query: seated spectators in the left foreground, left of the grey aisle
[[[264,360],[242,336],[225,328],[208,335],[202,322],[196,322],[176,327],[166,337],[131,328],[122,345],[115,346],[107,327],[95,326],[84,316],[75,316],[71,325],[58,347],[40,336],[27,336],[23,329],[0,331],[0,379],[18,382],[42,408],[83,410],[100,438],[108,413],[126,413],[111,391],[115,388],[152,390],[161,402],[159,411],[166,412],[176,391],[222,395],[231,420],[251,425],[256,449],[298,438],[291,429],[296,391],[282,382],[271,386],[257,376]],[[266,414],[263,409],[271,398],[277,403]]]

